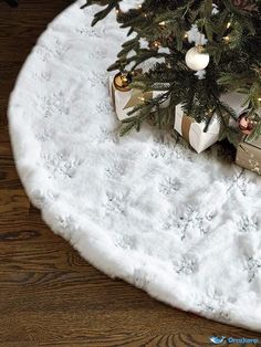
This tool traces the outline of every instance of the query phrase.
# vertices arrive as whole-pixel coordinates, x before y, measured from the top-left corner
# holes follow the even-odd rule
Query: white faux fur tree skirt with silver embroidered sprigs
[[[144,128],[118,138],[106,67],[125,33],[74,3],[40,38],[9,108],[21,180],[94,266],[175,307],[261,332],[261,178]]]

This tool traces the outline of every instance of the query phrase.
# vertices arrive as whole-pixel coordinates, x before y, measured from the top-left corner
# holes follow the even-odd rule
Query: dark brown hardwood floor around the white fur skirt
[[[168,307],[111,280],[42,222],[18,178],[7,106],[45,25],[71,0],[0,0],[0,346],[210,346],[209,336],[258,337]]]

